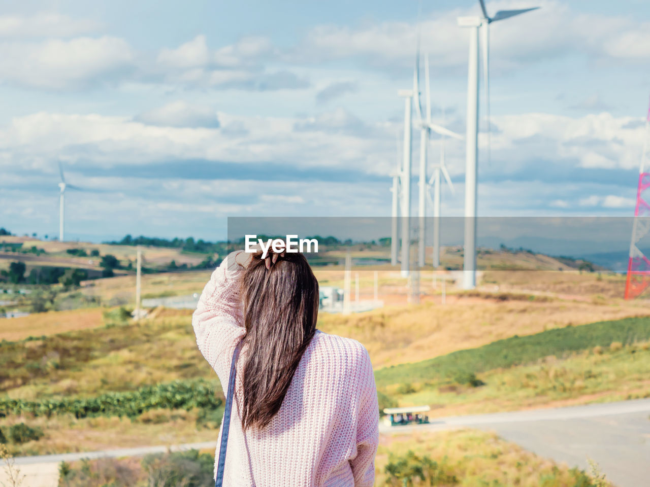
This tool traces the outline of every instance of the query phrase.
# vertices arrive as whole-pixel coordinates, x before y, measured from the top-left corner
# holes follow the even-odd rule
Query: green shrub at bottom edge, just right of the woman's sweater
[[[383,483],[384,487],[458,484],[456,475],[448,472],[447,466],[435,462],[427,455],[415,455],[410,450],[406,455],[392,456],[385,466],[384,472],[387,473],[387,478]]]

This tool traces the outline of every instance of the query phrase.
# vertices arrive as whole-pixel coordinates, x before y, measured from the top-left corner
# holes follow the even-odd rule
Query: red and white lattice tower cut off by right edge
[[[627,281],[625,282],[625,299],[634,299],[650,286],[650,259],[643,254],[637,244],[650,231],[650,173],[645,172],[645,161],[649,149],[650,107],[645,118],[645,140],[643,155],[639,168],[639,186],[636,190],[636,209],[632,223],[632,241],[627,262]]]

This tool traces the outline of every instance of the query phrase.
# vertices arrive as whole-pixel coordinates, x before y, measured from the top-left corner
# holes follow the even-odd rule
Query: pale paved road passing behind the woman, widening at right
[[[386,427],[382,434],[439,431],[472,427],[496,431],[528,451],[588,469],[595,460],[619,487],[650,486],[650,399],[541,410],[435,418],[429,425]],[[179,449],[214,448],[216,442],[189,443]],[[86,453],[23,456],[16,466],[27,475],[26,487],[57,487],[59,462],[104,456],[140,456],[161,453],[168,446],[126,448]],[[0,482],[3,481],[0,473]]]

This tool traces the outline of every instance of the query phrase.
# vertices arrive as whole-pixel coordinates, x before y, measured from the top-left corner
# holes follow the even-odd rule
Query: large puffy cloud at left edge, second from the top
[[[133,67],[125,40],[103,36],[34,43],[0,43],[0,79],[19,86],[68,90],[107,82]]]

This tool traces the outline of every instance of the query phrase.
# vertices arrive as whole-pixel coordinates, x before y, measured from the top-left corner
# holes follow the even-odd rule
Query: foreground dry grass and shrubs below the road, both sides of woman
[[[114,428],[120,429],[121,425],[114,425]],[[73,462],[66,469],[70,473],[65,484],[72,487],[146,487],[151,485],[148,479],[153,477],[155,469],[168,475],[173,473],[177,484],[183,485],[186,485],[185,479],[196,478],[201,471],[207,485],[213,471],[214,450],[168,453],[159,456],[154,463],[151,460],[151,457],[144,460],[107,458]],[[610,487],[608,482],[596,480],[589,473],[529,453],[488,432],[463,429],[382,436],[375,461],[374,486],[424,485]]]

